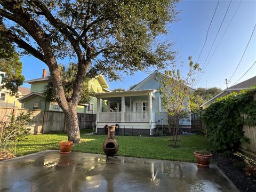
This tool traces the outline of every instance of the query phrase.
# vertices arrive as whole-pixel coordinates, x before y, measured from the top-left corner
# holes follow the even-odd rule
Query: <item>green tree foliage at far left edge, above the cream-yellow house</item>
[[[0,23],[2,19],[0,18]],[[10,91],[11,95],[18,92],[18,87],[23,84],[25,77],[22,73],[22,63],[13,44],[2,33],[0,34],[0,71],[4,71],[5,77],[2,79],[0,90],[4,87]]]

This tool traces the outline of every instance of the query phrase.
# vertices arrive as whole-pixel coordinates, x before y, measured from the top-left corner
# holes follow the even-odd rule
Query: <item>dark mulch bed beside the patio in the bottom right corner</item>
[[[212,156],[212,160],[240,191],[256,191],[256,180],[248,178],[245,172],[238,171],[233,166],[234,162],[244,161],[243,158],[235,155],[225,157],[220,153],[215,153]]]

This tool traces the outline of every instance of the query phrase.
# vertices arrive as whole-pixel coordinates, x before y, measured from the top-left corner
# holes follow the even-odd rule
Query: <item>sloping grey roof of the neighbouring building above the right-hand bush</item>
[[[206,101],[203,105],[201,105],[200,107],[202,109],[207,108],[208,106],[211,105],[211,103],[213,103],[216,99],[224,97],[225,95],[229,94],[229,93],[233,93],[233,92],[239,92],[241,90],[248,90],[250,89],[250,87],[252,86],[256,86],[256,76],[247,79],[246,81],[243,81],[241,83],[238,83],[234,86],[231,86],[227,89],[225,89],[224,91],[220,92],[219,94],[217,94],[215,97],[213,97],[212,99]]]

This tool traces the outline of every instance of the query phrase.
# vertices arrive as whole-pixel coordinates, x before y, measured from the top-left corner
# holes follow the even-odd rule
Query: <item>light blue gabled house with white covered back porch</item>
[[[100,99],[108,101],[107,111],[97,108],[96,132],[103,134],[106,124],[118,124],[119,134],[149,136],[157,128],[168,126],[168,115],[162,106],[163,97],[158,92],[161,84],[155,81],[155,77],[161,79],[162,75],[155,71],[130,91],[94,93],[98,103]],[[190,132],[190,115],[181,119],[180,125],[184,131]]]

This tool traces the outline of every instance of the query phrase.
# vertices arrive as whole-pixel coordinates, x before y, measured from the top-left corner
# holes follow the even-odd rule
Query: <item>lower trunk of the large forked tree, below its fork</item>
[[[74,143],[80,142],[80,132],[78,125],[78,118],[76,106],[70,107],[69,110],[64,111],[66,115],[66,130],[68,133],[68,140]]]

